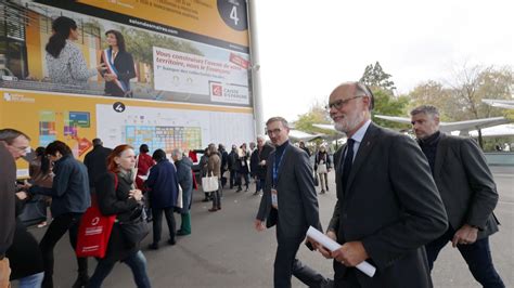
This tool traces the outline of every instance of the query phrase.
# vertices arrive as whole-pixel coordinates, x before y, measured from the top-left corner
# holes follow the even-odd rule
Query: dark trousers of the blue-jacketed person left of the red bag
[[[66,213],[59,215],[48,226],[44,236],[39,243],[39,249],[41,249],[43,265],[44,265],[44,279],[42,287],[53,287],[53,248],[63,235],[68,232],[69,243],[75,251],[77,245],[78,226],[80,224],[80,218],[82,213]],[[88,275],[88,259],[77,258],[78,274],[83,277]]]

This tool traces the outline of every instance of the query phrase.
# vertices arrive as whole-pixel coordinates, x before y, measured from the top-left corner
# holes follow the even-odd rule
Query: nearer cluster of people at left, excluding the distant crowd
[[[103,147],[100,139],[94,139],[93,148],[81,162],[64,142],[54,141],[47,147],[38,147],[35,153],[30,152],[29,142],[30,138],[22,131],[0,130],[0,287],[8,287],[12,280],[18,280],[23,288],[54,287],[54,247],[68,233],[70,246],[76,249],[81,218],[92,202],[103,215],[115,215],[116,220],[106,254],[98,259],[91,276],[88,259],[77,257],[78,275],[73,287],[101,287],[118,261],[131,269],[138,287],[151,287],[141,239],[131,240],[127,223],[146,213],[152,215],[144,218],[144,221],[153,222],[151,249],[158,249],[163,213],[168,224],[169,245],[176,244],[176,235],[191,234],[194,176],[189,157],[180,149],[171,152],[171,159],[163,149],[156,149],[150,156],[146,144],[140,146],[136,156],[129,145],[111,149]],[[22,157],[29,161],[30,178],[16,183],[14,160]],[[51,221],[38,243],[18,215],[27,200],[40,195],[43,196],[41,201],[50,204]],[[181,215],[178,231],[175,212]]]

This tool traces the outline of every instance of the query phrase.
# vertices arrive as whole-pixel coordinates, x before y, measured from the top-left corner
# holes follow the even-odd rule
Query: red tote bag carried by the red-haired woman
[[[114,174],[114,187],[118,186],[118,178]],[[108,238],[113,231],[116,215],[103,215],[100,212],[97,197],[91,197],[91,207],[86,210],[78,228],[77,257],[104,258],[107,252]]]

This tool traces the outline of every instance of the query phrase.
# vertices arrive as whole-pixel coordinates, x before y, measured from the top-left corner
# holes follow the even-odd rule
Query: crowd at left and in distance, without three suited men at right
[[[150,155],[146,144],[142,144],[139,153],[136,153],[129,145],[111,149],[104,147],[100,139],[94,139],[92,149],[81,162],[74,157],[72,148],[61,141],[38,147],[34,153],[30,152],[30,138],[22,131],[2,129],[0,141],[8,148],[15,147],[9,149],[15,152],[10,158],[23,157],[29,161],[28,181],[18,182],[12,187],[16,192],[15,210],[12,210],[16,223],[14,240],[4,251],[4,257],[11,261],[12,271],[7,280],[18,280],[20,287],[54,286],[54,247],[68,233],[69,244],[76,249],[81,218],[92,202],[98,205],[102,214],[116,215],[116,223],[106,256],[99,259],[92,275],[88,273],[88,259],[76,258],[77,279],[73,287],[101,287],[118,261],[131,269],[138,287],[150,287],[146,260],[140,243],[128,244],[123,232],[123,223],[133,220],[134,214],[145,213],[146,220],[152,222],[153,241],[150,249],[159,249],[163,213],[169,232],[168,245],[176,244],[176,236],[192,233],[190,209],[196,184],[191,159],[196,158],[196,155],[192,155],[192,152],[185,154],[181,149],[174,149],[169,159],[163,149]],[[201,178],[214,176],[218,184],[216,189],[206,192],[206,199],[213,201],[208,211],[221,209],[226,186],[230,185],[235,193],[240,193],[244,185],[247,192],[252,179],[256,187],[254,195],[265,189],[267,160],[274,146],[267,143],[264,136],[258,136],[257,144],[252,142],[249,147],[246,143],[239,147],[232,145],[232,150],[227,153],[222,144],[209,144],[205,149],[198,163]],[[10,180],[15,183],[16,179],[11,176]],[[44,214],[47,206],[50,206],[49,225],[39,243],[17,217],[28,200],[44,202]],[[178,228],[174,215],[176,212],[181,218]],[[41,227],[46,225],[47,220],[39,224]]]

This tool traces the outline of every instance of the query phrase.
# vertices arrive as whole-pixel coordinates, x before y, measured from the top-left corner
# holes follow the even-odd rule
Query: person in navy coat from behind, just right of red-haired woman
[[[169,231],[169,245],[175,245],[175,215],[174,208],[179,195],[179,182],[175,166],[166,159],[166,153],[156,149],[152,158],[157,162],[150,169],[150,175],[144,184],[150,188],[150,202],[152,206],[154,241],[150,249],[158,249],[160,241],[163,212],[166,215]]]

